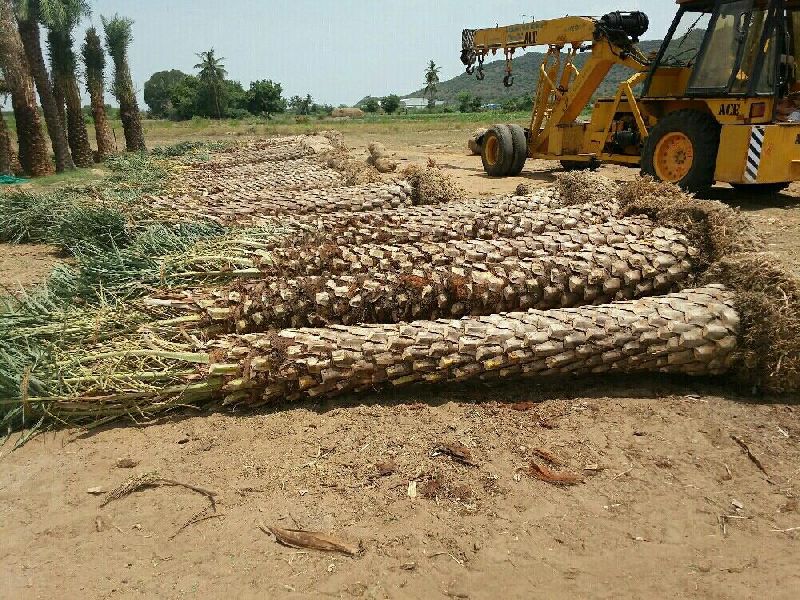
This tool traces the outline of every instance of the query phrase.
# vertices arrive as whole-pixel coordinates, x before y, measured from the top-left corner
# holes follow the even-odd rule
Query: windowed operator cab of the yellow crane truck
[[[678,0],[643,97],[774,97],[800,121],[800,0]]]

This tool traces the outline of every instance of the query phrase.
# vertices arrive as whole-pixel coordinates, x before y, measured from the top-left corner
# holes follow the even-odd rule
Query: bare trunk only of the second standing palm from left
[[[36,82],[36,89],[39,91],[39,100],[42,103],[42,111],[47,123],[47,133],[56,157],[56,172],[62,173],[74,169],[75,165],[69,153],[64,122],[59,116],[53,87],[44,62],[39,24],[34,20],[26,20],[20,21],[18,27],[28,64]]]

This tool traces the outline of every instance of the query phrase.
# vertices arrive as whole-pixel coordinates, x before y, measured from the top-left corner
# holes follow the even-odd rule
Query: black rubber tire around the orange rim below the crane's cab
[[[711,115],[696,110],[676,110],[656,123],[642,148],[642,173],[658,179],[653,164],[656,146],[661,138],[676,131],[692,142],[694,159],[689,172],[674,183],[690,192],[710,188],[717,168],[720,125]]]

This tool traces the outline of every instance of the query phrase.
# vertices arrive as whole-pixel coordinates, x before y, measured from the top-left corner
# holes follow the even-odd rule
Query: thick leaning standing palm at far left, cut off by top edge
[[[17,123],[19,161],[28,175],[38,177],[53,172],[36,106],[33,77],[17,29],[11,0],[0,0],[0,68],[11,92]]]

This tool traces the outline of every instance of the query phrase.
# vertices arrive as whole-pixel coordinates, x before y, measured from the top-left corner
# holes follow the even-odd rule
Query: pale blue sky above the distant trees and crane
[[[100,15],[135,20],[131,66],[141,98],[155,71],[193,72],[195,53],[213,47],[229,77],[283,84],[285,94],[352,104],[363,96],[422,87],[433,59],[442,80],[462,72],[461,30],[566,14],[644,10],[646,38],[661,38],[675,12],[670,0],[90,0]],[[82,38],[83,32],[76,35]]]

